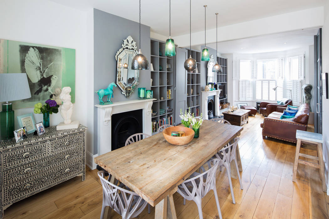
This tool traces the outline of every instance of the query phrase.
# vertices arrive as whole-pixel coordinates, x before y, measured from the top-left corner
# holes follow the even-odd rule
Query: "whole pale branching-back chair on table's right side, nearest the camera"
[[[177,192],[183,196],[184,205],[186,199],[191,201],[193,200],[198,207],[199,218],[203,219],[202,214],[202,198],[210,191],[213,190],[215,201],[217,205],[219,218],[222,219],[222,214],[220,212],[218,195],[216,190],[216,169],[218,167],[219,160],[213,159],[209,162],[211,166],[207,171],[203,171],[204,168],[200,168],[201,171],[194,172],[187,180],[185,180],[181,185],[178,186]],[[202,173],[201,173],[202,172]]]

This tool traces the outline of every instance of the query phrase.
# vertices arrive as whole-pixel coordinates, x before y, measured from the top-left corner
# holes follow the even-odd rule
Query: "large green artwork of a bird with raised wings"
[[[0,73],[27,74],[31,98],[13,101],[14,109],[44,102],[62,87],[71,87],[75,102],[75,49],[0,39]]]

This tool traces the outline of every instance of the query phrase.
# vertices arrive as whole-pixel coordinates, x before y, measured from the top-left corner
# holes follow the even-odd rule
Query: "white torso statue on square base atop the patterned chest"
[[[71,102],[71,88],[70,87],[63,87],[62,92],[59,98],[63,101],[63,105],[60,109],[61,116],[64,119],[64,122],[60,122],[56,129],[63,130],[63,129],[72,129],[78,128],[80,125],[80,121],[71,121],[72,113],[73,113],[73,103]]]

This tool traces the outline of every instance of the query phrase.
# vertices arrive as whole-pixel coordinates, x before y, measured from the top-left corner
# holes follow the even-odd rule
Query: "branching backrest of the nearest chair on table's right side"
[[[212,189],[216,181],[215,175],[219,160],[213,159],[210,163],[212,163],[213,166],[207,171],[200,174],[194,174],[195,176],[192,174],[192,178],[185,180],[178,186],[179,193],[183,193],[185,196],[183,196],[184,198],[188,200],[192,200],[195,196],[200,196],[200,198],[203,198],[207,192]]]

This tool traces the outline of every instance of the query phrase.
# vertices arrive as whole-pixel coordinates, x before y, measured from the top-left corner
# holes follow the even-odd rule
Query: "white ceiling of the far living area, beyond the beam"
[[[314,35],[318,29],[275,33],[238,40],[219,42],[218,53],[253,54],[287,51],[314,44]],[[216,49],[216,44],[207,44],[207,47]],[[201,46],[201,49],[204,47]],[[243,49],[241,49],[243,48]]]

